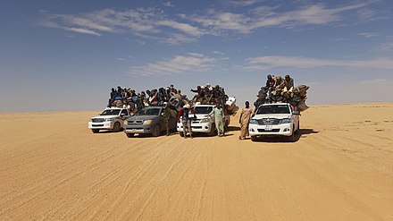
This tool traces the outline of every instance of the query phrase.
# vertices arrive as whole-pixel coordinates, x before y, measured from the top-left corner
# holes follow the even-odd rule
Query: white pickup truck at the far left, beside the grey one
[[[88,122],[88,128],[96,133],[100,130],[120,132],[123,128],[124,120],[130,116],[126,108],[105,108],[103,113],[94,116]]]

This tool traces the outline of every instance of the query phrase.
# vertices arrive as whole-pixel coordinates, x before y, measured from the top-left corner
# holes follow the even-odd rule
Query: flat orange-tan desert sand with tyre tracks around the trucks
[[[0,114],[0,220],[393,220],[393,103],[311,106],[298,140],[93,134]]]

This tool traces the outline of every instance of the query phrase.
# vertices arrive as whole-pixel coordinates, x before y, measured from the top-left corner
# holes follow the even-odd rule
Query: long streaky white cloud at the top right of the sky
[[[277,12],[278,7],[256,7],[250,13],[229,13],[210,10],[203,15],[191,15],[189,19],[209,30],[233,30],[250,33],[268,27],[293,27],[299,25],[324,25],[341,21],[342,13],[361,9],[367,4],[350,4],[328,8],[324,4],[306,5],[300,9]]]

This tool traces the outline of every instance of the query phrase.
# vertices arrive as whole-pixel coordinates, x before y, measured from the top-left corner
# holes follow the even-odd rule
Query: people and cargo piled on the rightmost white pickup
[[[266,103],[282,102],[304,111],[308,108],[305,106],[307,89],[309,87],[305,85],[295,87],[293,79],[288,74],[284,79],[280,75],[274,77],[268,74],[266,84],[259,90],[254,105],[256,108]]]

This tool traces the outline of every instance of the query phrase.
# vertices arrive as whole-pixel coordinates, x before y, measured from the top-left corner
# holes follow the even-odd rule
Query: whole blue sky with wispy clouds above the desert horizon
[[[308,104],[393,101],[393,2],[2,1],[0,112],[100,110],[121,85],[220,84],[254,102],[266,75]]]

